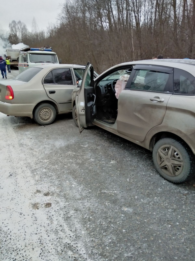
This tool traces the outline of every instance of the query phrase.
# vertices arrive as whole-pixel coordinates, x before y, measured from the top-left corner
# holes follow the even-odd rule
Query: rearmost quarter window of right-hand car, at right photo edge
[[[192,74],[174,69],[174,93],[195,95],[195,78]]]

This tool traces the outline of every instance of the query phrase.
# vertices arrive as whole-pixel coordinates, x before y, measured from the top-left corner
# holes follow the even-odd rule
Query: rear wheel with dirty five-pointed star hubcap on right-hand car
[[[164,138],[153,149],[153,161],[159,174],[165,179],[180,183],[193,175],[192,153],[180,141]]]

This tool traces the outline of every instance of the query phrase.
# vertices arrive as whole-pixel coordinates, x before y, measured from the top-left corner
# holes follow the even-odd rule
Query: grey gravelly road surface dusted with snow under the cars
[[[151,152],[71,114],[1,113],[0,150],[1,261],[194,261],[195,181],[162,179]]]

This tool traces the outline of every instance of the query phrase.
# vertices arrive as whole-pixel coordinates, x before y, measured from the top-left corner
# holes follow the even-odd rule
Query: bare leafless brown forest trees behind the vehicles
[[[72,0],[45,31],[9,27],[11,44],[50,45],[63,63],[90,61],[99,73],[158,54],[195,58],[195,0]]]

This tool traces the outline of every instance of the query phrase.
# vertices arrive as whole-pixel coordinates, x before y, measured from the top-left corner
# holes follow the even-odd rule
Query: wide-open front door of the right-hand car
[[[94,70],[93,66],[87,63],[81,88],[76,93],[75,99],[80,133],[95,120],[96,106],[94,92]]]

